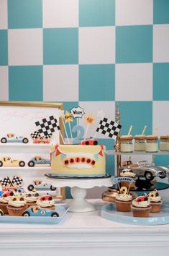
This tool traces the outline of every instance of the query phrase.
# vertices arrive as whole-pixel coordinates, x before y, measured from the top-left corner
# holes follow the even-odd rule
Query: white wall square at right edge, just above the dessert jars
[[[168,109],[169,101],[152,102],[152,131],[157,129],[158,136],[169,135]]]

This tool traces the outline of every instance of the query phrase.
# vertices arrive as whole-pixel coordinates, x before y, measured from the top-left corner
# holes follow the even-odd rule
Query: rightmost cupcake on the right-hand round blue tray
[[[162,200],[157,192],[157,189],[150,192],[148,194],[148,198],[150,199],[150,205],[152,207],[150,213],[159,213],[161,210]]]

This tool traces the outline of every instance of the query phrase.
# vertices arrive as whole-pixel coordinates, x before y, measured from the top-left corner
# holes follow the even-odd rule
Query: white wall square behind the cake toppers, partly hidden
[[[114,101],[80,101],[79,106],[83,108],[85,111],[85,114],[83,115],[82,119],[79,119],[79,124],[84,127],[86,132],[86,124],[84,116],[88,116],[89,114],[92,114],[94,118],[96,118],[96,121],[93,122],[92,125],[88,127],[88,132],[86,137],[93,137],[96,133],[96,128],[99,125],[99,119],[97,118],[98,111],[104,111],[104,116],[108,119],[111,119],[115,121],[115,102]],[[101,133],[97,133],[96,138],[102,138],[102,139],[109,139],[109,137],[106,137],[105,135],[102,135]],[[114,140],[113,140],[114,143]]]

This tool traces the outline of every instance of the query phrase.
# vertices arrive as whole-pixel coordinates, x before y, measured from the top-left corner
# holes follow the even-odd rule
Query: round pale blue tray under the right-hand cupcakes
[[[153,226],[169,223],[169,205],[162,205],[160,213],[150,213],[149,218],[137,218],[132,216],[132,212],[119,212],[115,204],[104,205],[101,209],[101,216],[109,221],[119,223]]]

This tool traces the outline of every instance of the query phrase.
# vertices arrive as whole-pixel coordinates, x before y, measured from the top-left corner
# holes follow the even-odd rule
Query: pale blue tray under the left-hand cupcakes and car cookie
[[[29,217],[18,217],[18,216],[0,216],[0,222],[8,222],[8,223],[40,223],[40,224],[58,224],[65,213],[68,212],[69,205],[58,205],[57,204],[57,212],[59,213],[59,217],[39,217],[39,216],[29,216]]]

